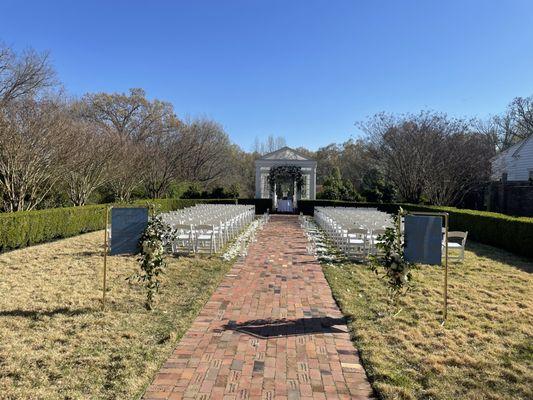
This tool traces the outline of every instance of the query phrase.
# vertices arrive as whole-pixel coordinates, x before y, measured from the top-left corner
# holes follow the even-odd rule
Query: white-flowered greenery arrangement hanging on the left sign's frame
[[[160,276],[166,267],[165,248],[163,241],[170,234],[170,227],[160,216],[151,217],[148,226],[141,236],[139,266],[141,272],[132,275],[128,280],[137,281],[146,290],[145,307],[153,309],[154,299],[161,285]]]

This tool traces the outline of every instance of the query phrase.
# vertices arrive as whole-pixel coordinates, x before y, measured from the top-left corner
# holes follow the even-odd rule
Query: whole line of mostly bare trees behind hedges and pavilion
[[[533,98],[484,121],[438,112],[378,114],[362,134],[317,151],[319,197],[457,205],[490,177],[490,158],[533,132]],[[216,121],[179,118],[142,89],[61,90],[47,54],[0,45],[0,208],[139,198],[253,197],[254,161],[285,145],[232,143]]]

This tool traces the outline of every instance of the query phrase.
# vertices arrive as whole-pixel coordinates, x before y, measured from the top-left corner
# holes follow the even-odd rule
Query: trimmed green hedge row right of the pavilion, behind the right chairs
[[[300,211],[307,215],[313,215],[315,206],[376,207],[389,213],[397,213],[401,206],[409,211],[447,212],[450,215],[451,230],[468,231],[468,237],[472,240],[533,258],[533,218],[413,204],[353,203],[330,200],[301,200],[299,202]]]

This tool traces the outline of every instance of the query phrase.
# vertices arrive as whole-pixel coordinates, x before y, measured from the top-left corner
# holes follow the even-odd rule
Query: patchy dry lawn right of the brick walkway
[[[533,263],[470,243],[451,264],[441,326],[442,268],[421,266],[393,316],[363,265],[325,265],[356,347],[384,399],[532,399]]]

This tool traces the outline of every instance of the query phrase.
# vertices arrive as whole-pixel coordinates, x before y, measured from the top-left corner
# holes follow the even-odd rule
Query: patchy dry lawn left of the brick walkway
[[[108,258],[103,232],[0,255],[0,398],[139,397],[230,264],[168,258],[156,309],[126,278],[135,257]]]

